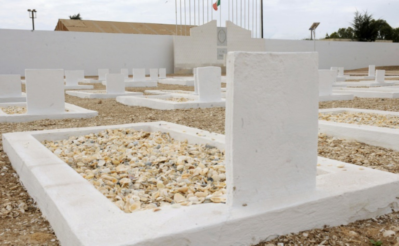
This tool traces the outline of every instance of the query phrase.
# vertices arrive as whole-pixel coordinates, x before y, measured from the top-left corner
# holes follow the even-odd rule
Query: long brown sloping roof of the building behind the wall
[[[195,25],[177,26],[177,35],[190,35],[190,28]],[[95,33],[133,33],[176,35],[176,25],[156,23],[136,23],[117,21],[69,20],[59,19],[54,31],[84,31]]]

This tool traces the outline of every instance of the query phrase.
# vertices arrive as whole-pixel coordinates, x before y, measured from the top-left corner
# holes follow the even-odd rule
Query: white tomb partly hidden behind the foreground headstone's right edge
[[[338,94],[332,92],[332,86],[336,84],[334,70],[318,70],[319,73],[319,102],[353,100],[352,94]]]

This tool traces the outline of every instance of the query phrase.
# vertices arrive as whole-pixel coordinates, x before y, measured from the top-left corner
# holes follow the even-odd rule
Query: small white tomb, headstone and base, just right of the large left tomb
[[[142,96],[142,92],[126,92],[123,74],[106,74],[106,90],[66,91],[79,98],[116,98],[118,96]]]

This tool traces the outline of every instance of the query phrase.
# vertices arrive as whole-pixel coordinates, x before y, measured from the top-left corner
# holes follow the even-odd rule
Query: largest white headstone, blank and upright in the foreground
[[[314,191],[318,54],[229,52],[227,80],[227,203]]]

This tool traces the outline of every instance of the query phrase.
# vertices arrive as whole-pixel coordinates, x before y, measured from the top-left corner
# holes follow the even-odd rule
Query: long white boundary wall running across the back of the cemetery
[[[197,27],[212,29],[208,26]],[[212,34],[201,35],[200,39],[211,41],[211,48],[217,47],[216,26]],[[363,68],[369,64],[376,66],[399,65],[399,43],[307,41],[285,39],[252,39],[247,32],[241,32],[235,25],[228,25],[228,51],[269,51],[269,52],[319,52],[319,69],[344,66],[346,69]],[[247,30],[245,30],[247,31]],[[195,32],[195,28],[192,33]],[[232,39],[232,34],[239,34]],[[213,35],[214,34],[214,35]],[[245,36],[249,36],[247,41]],[[85,70],[85,75],[97,75],[98,68],[111,68],[111,73],[120,73],[121,68],[164,67],[167,73],[174,72],[176,64],[190,66],[193,56],[174,54],[173,36],[120,33],[85,33],[71,31],[30,31],[0,29],[0,52],[6,59],[0,60],[0,74],[20,74],[25,69]],[[176,36],[177,39],[187,39]],[[229,42],[230,41],[230,42]],[[191,43],[191,45],[190,45]],[[195,42],[186,43],[182,51],[196,54]],[[315,45],[316,44],[316,45]],[[230,47],[231,46],[231,47]],[[202,66],[212,64],[223,66],[217,60],[216,52],[204,52]],[[206,48],[206,47],[205,47]],[[216,49],[216,48],[215,48]],[[190,61],[177,61],[186,57]],[[219,62],[220,64],[215,64]],[[197,63],[197,62],[194,62]]]

